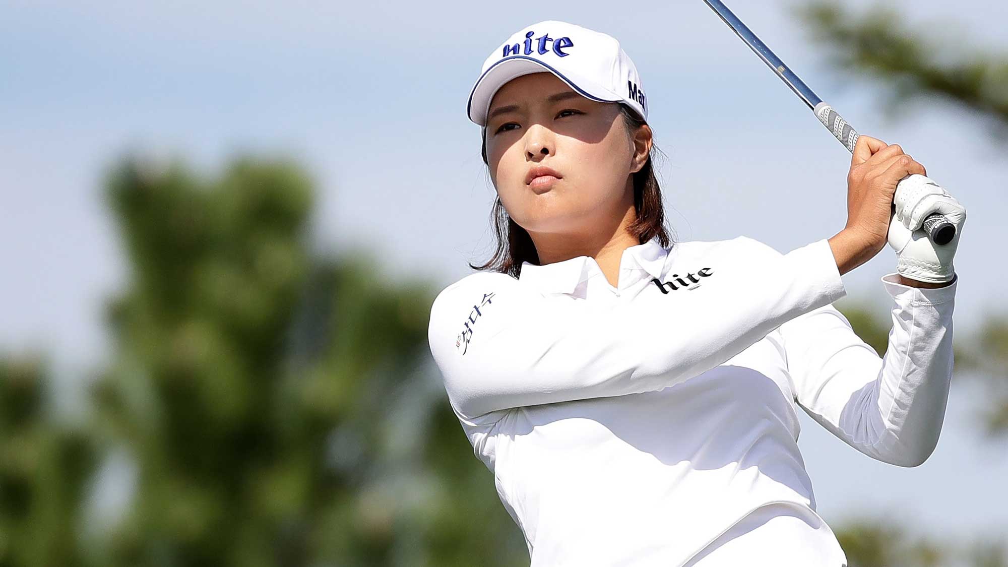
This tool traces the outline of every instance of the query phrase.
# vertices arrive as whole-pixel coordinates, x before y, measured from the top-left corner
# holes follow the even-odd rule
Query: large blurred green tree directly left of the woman
[[[527,562],[427,362],[434,290],[312,254],[298,166],[129,158],[107,186],[130,282],[95,415],[137,478],[100,564]]]

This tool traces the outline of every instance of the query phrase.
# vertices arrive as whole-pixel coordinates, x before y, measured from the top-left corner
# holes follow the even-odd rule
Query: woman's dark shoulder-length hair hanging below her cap
[[[623,115],[623,124],[627,132],[633,135],[645,122],[629,106],[619,103],[620,113]],[[490,165],[487,159],[487,129],[483,128],[483,147],[480,153],[483,155],[483,162]],[[673,230],[665,228],[665,212],[661,202],[661,189],[658,187],[658,180],[655,178],[654,161],[655,153],[664,155],[658,146],[653,142],[651,152],[647,161],[640,171],[633,174],[633,203],[637,211],[637,220],[631,224],[627,230],[637,237],[640,244],[650,241],[655,236],[662,246],[668,247],[674,243],[669,237],[669,232],[674,236]],[[489,269],[500,271],[517,277],[521,272],[521,262],[527,261],[538,265],[539,253],[535,250],[535,244],[528,231],[518,225],[507,214],[500,196],[494,201],[494,208],[490,213],[494,223],[494,230],[497,235],[497,250],[493,257],[482,265],[469,264],[473,269]]]

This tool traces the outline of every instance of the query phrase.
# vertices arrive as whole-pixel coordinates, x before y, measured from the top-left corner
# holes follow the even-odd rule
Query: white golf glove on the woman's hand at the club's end
[[[920,281],[952,281],[956,275],[952,260],[963,234],[966,207],[929,178],[917,174],[900,181],[893,205],[888,241],[896,250],[896,271]],[[956,226],[956,236],[948,244],[933,244],[920,229],[931,213],[944,215]]]

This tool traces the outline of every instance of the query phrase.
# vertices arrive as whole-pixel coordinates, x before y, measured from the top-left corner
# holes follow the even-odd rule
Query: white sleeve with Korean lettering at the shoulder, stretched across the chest
[[[718,245],[702,287],[651,286],[618,306],[545,297],[499,272],[449,286],[431,306],[428,344],[454,408],[475,418],[659,390],[846,296],[826,239],[787,254],[744,236]]]

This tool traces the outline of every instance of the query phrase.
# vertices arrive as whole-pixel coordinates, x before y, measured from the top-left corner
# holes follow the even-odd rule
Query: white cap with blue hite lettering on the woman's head
[[[647,120],[647,97],[637,67],[612,35],[545,20],[511,35],[483,62],[469,94],[469,119],[487,125],[490,101],[508,81],[548,71],[585,98],[623,102]]]

